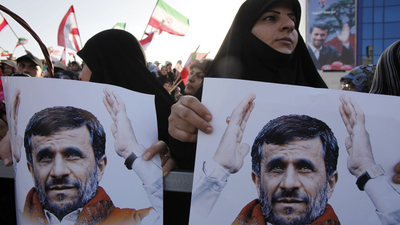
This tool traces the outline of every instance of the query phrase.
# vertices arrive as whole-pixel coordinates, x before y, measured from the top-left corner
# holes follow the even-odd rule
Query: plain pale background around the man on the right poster
[[[238,173],[230,175],[210,215],[201,224],[231,224],[242,208],[258,198],[256,187],[251,179],[251,147],[258,132],[270,120],[283,115],[308,115],[324,121],[334,133],[339,145],[338,182],[328,203],[332,205],[341,224],[381,224],[375,207],[364,191],[356,186],[356,177],[347,169],[348,153],[344,140],[348,137],[346,127],[340,117],[340,94],[344,93],[360,105],[365,113],[365,126],[370,134],[372,151],[376,163],[386,171],[386,179],[400,191],[400,185],[392,182],[394,165],[400,162],[400,97],[378,94],[365,94],[351,91],[309,88],[234,80],[205,78],[202,104],[212,114],[211,135],[199,131],[196,164],[193,184],[202,173],[204,161],[212,160],[221,137],[228,126],[226,118],[239,102],[254,92],[255,106],[248,119],[242,143],[250,145],[250,152]],[[192,207],[193,208],[193,207]],[[195,214],[191,211],[190,214]],[[199,223],[199,224],[200,224]],[[198,224],[190,221],[190,225]]]

